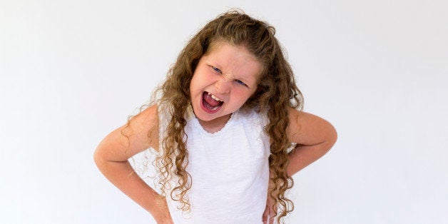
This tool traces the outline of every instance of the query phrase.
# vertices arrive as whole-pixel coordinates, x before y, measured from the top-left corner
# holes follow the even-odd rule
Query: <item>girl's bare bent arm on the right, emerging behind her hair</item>
[[[287,128],[290,142],[297,146],[290,152],[288,175],[292,176],[325,155],[335,144],[335,128],[324,119],[290,108],[290,126]]]

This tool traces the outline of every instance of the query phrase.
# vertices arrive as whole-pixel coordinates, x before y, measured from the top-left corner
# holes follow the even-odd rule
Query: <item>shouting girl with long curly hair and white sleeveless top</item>
[[[335,143],[330,123],[300,111],[274,34],[238,11],[210,21],[180,52],[158,99],[96,149],[101,172],[157,223],[282,222],[293,209],[291,176]],[[157,154],[159,193],[128,162],[147,148]]]

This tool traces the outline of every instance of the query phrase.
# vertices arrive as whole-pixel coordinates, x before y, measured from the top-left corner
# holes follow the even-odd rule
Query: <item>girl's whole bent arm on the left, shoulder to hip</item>
[[[122,131],[128,138],[123,136]],[[121,126],[108,134],[96,148],[93,157],[101,173],[151,213],[157,223],[172,223],[166,199],[149,187],[128,162],[128,158],[149,147],[158,149],[157,106],[151,106],[131,118],[127,128]]]

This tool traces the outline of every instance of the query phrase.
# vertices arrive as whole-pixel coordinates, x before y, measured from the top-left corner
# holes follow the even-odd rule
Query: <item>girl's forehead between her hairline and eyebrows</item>
[[[225,41],[218,41],[210,45],[203,56],[206,63],[213,63],[223,73],[231,73],[233,76],[254,76],[258,78],[263,65],[243,45],[232,45]],[[247,77],[246,77],[247,78]]]

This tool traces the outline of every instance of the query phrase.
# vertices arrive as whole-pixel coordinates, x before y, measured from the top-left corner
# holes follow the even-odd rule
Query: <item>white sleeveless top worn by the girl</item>
[[[162,137],[168,120],[161,111],[159,118]],[[263,131],[267,122],[265,114],[241,110],[220,131],[208,133],[188,110],[190,212],[178,210],[178,202],[166,193],[174,223],[263,223],[270,155]]]

